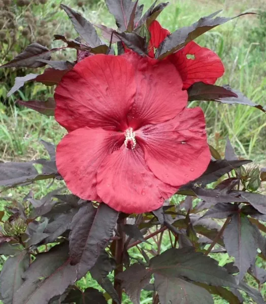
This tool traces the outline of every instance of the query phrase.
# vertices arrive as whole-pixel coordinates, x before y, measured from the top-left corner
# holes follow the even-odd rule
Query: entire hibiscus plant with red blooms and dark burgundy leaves
[[[30,192],[7,209],[2,301],[119,304],[126,293],[137,304],[146,290],[153,304],[209,304],[212,295],[264,303],[266,273],[256,259],[266,258],[266,196],[259,188],[265,169],[239,159],[229,140],[222,157],[207,142],[201,107],[188,107],[216,101],[265,112],[229,85],[214,85],[223,64],[193,42],[251,13],[215,12],[170,33],[156,21],[168,3],[155,1],[144,14],[138,1],[106,4],[117,29],[97,25],[96,31],[61,5],[79,36],[54,35],[66,46],[51,50],[33,43],[2,66],[48,66],[16,78],[9,94],[29,81],[56,85],[54,98],[18,102],[67,130],[56,148],[42,141],[50,159],[0,164],[4,189],[44,179],[67,186],[38,200]],[[76,49],[75,60],[51,60],[62,49]],[[234,262],[221,267],[218,253]],[[75,285],[88,272],[101,291]]]

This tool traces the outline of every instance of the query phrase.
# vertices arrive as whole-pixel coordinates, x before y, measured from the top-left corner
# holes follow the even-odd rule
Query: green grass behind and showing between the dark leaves
[[[39,7],[35,12],[36,16],[61,20],[54,32],[64,34],[69,31],[74,38],[75,31],[65,14],[60,10],[56,10],[55,15],[50,14],[52,12],[52,3],[59,4],[60,1],[49,1],[45,6]],[[77,9],[76,1],[74,0],[64,1],[63,3]],[[145,8],[148,8],[152,2],[145,0],[141,1],[141,3],[144,3]],[[190,25],[200,17],[218,9],[225,9],[220,15],[233,16],[248,9],[256,12],[262,6],[263,1],[252,0],[233,2],[233,4],[227,0],[212,0],[211,2],[203,0],[200,2],[196,0],[173,0],[171,5],[159,16],[158,20],[164,27],[173,31],[177,27]],[[102,23],[115,27],[114,19],[108,14],[102,0],[93,5],[93,7],[84,8],[84,12],[80,11],[92,23]],[[21,25],[23,24],[22,21],[18,17],[18,22],[21,22]],[[258,26],[258,18],[255,15],[244,16],[213,29],[196,41],[202,46],[216,51],[224,62],[226,72],[217,84],[230,84],[231,87],[242,91],[254,102],[265,105],[263,96],[266,94],[266,63],[264,62],[266,53],[265,49],[260,48],[262,43],[262,40],[259,39],[260,36],[257,34],[252,36],[250,34]],[[54,42],[52,46],[56,47],[59,44],[59,42]],[[13,79],[11,80],[13,81]],[[0,96],[5,97],[9,89],[5,84],[0,86]],[[48,96],[47,93],[51,96],[52,88],[47,91],[47,87],[42,85],[37,85],[34,88],[32,86],[25,87],[9,100],[45,98]],[[193,102],[190,105],[195,106],[196,103]],[[229,106],[215,102],[202,102],[200,105],[206,114],[209,142],[213,146],[222,153],[225,139],[229,136],[232,144],[236,147],[238,155],[254,159],[257,163],[265,164],[263,158],[266,142],[263,138],[266,136],[266,121],[262,112],[247,106]],[[39,115],[39,113],[28,109],[18,109],[12,104],[9,106],[0,104],[0,161],[25,161],[46,156],[45,149],[39,143],[39,140],[44,139],[57,144],[64,134],[64,129],[54,121],[54,118]],[[34,186],[9,189],[2,195],[21,200],[32,189],[37,198],[40,198],[53,187],[58,186],[58,184],[62,184],[62,182],[57,182],[47,189],[49,181],[39,181]],[[0,210],[3,210],[5,204],[5,201],[0,200]],[[155,241],[152,241],[152,244],[152,247],[155,247]],[[140,245],[140,247],[151,249],[149,246],[147,244]],[[161,250],[164,251],[168,248],[170,248],[169,236],[164,233]],[[129,254],[135,258],[142,258],[137,248],[130,249]],[[219,261],[220,265],[232,260],[228,255],[224,254],[213,254],[212,256]],[[4,262],[5,259],[5,257],[1,257],[0,263]],[[258,260],[258,263],[262,264],[260,260]],[[249,284],[257,287],[250,276],[247,277],[247,280]],[[83,289],[88,286],[101,289],[89,275],[77,284]],[[262,294],[266,296],[265,286],[262,288]],[[151,298],[152,292],[143,291],[141,303],[151,303]],[[245,300],[249,302],[249,299],[245,298]],[[125,296],[123,304],[129,303],[131,301]],[[215,304],[223,303],[225,303],[224,300],[215,297]]]

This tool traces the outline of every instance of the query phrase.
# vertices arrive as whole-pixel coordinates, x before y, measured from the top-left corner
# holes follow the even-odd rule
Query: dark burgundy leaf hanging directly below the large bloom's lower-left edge
[[[97,209],[88,202],[73,217],[70,234],[71,264],[77,265],[83,277],[108,245],[116,225],[118,212],[102,203]]]

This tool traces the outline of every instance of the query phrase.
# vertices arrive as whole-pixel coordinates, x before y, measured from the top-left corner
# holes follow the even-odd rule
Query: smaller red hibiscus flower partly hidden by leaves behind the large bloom
[[[162,28],[158,21],[153,21],[149,27],[151,39],[149,42],[149,56],[154,58],[154,48],[170,34]],[[213,85],[224,73],[221,59],[213,51],[202,48],[193,41],[183,49],[167,57],[179,71],[183,80],[183,89],[188,89],[196,82]]]

